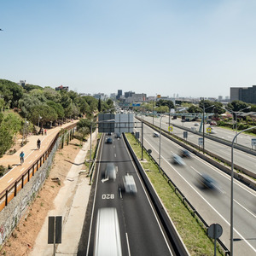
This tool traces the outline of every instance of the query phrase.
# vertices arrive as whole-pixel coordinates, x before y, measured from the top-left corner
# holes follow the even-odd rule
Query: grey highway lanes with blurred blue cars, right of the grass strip
[[[206,161],[192,155],[185,159],[185,166],[172,162],[172,154],[179,154],[180,147],[166,137],[153,137],[153,130],[147,125],[143,129],[143,145],[152,150],[155,160],[168,174],[183,195],[206,220],[207,224],[218,223],[224,233],[220,240],[230,248],[230,176],[211,166]],[[142,136],[141,129],[137,129]],[[215,146],[217,147],[217,146]],[[202,189],[198,183],[198,173],[207,173],[219,186],[219,190]],[[255,255],[256,253],[256,192],[242,183],[234,181],[234,255]]]

